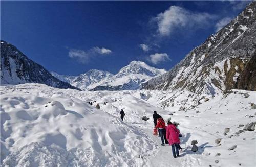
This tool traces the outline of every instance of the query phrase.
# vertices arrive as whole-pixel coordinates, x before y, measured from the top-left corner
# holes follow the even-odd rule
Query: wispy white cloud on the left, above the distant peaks
[[[96,46],[96,47],[92,47],[92,49],[90,49],[88,51],[70,49],[69,50],[69,57],[76,58],[81,63],[88,63],[95,56],[108,55],[110,53],[112,53],[111,50],[106,49],[104,47],[100,48],[100,47]]]

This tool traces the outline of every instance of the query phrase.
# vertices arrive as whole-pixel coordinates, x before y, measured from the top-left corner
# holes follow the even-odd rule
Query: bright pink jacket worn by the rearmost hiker
[[[169,145],[180,143],[179,139],[179,130],[176,128],[175,125],[170,124],[166,128],[166,138],[169,141]]]

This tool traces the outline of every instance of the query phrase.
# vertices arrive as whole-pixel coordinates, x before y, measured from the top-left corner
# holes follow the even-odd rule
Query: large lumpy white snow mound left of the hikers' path
[[[141,166],[154,155],[152,138],[81,91],[22,84],[0,92],[3,166]]]

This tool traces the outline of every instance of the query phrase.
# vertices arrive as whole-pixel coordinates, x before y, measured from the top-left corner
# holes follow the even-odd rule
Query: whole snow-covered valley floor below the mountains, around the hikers
[[[256,92],[233,90],[203,97],[186,91],[90,92],[23,84],[1,86],[0,93],[2,166],[256,164],[255,131],[243,130],[256,122],[251,106]],[[123,122],[121,109],[126,114]],[[165,121],[180,123],[184,149],[179,158],[153,136],[154,110]],[[192,140],[198,141],[196,153],[191,151]]]

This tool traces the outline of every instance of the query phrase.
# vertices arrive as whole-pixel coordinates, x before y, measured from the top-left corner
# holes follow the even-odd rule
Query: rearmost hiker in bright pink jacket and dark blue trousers
[[[174,158],[179,157],[179,148],[178,144],[180,144],[180,139],[179,139],[179,130],[176,128],[172,122],[168,121],[167,123],[167,128],[166,128],[166,138],[169,141],[169,145],[172,145],[172,151],[173,151],[173,156]]]

